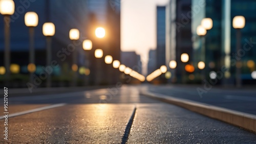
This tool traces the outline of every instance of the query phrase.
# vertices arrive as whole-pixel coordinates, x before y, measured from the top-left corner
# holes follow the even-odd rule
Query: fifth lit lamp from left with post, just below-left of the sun
[[[86,39],[82,42],[82,49],[84,51],[90,51],[93,48],[93,43],[91,40]],[[86,63],[86,67],[89,68],[89,53],[86,52],[86,59],[87,59],[87,63]],[[85,79],[84,79],[84,85],[89,85],[89,77],[87,77],[87,75],[85,75]]]

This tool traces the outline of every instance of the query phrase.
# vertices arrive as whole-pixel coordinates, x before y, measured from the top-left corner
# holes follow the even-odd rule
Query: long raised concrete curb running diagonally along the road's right
[[[186,99],[174,98],[171,96],[152,93],[148,91],[140,91],[140,94],[147,97],[157,99],[163,102],[174,104],[190,111],[200,113],[202,115],[218,119],[220,121],[241,127],[253,133],[256,133],[256,115],[244,112],[234,111],[226,108],[203,104]]]

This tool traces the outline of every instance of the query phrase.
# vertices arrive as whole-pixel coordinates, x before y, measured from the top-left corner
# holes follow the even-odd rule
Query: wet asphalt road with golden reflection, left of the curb
[[[9,141],[0,143],[256,143],[253,133],[139,94],[153,87],[9,95]]]

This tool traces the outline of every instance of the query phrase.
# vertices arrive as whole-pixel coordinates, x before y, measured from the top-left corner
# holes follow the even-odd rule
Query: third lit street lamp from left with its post
[[[52,58],[52,36],[55,34],[55,26],[52,22],[46,22],[42,25],[42,33],[46,36],[46,66],[50,66]],[[46,87],[51,87],[51,74],[46,79]]]

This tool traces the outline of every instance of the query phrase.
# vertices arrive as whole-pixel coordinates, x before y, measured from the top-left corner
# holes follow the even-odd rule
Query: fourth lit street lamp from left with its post
[[[69,31],[69,38],[71,40],[73,40],[73,43],[75,43],[76,40],[79,39],[79,30],[78,29],[71,29]],[[72,70],[73,70],[73,81],[72,81],[72,86],[76,86],[77,83],[77,68],[73,68],[73,67],[77,67],[77,49],[74,50],[73,52],[73,62],[72,62]]]

